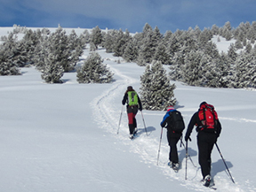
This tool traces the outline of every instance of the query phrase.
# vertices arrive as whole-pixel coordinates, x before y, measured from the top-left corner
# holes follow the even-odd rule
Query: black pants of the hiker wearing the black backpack
[[[179,163],[177,142],[179,142],[181,134],[174,134],[172,131],[167,131],[167,140],[170,146],[169,160],[172,163]]]

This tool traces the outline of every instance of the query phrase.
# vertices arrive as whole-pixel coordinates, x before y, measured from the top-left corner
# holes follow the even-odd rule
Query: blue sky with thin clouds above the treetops
[[[99,26],[141,32],[232,27],[256,20],[256,0],[0,0],[0,27]]]

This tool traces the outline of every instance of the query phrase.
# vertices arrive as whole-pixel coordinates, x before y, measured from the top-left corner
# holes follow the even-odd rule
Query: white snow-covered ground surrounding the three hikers
[[[0,34],[6,35],[2,29]],[[212,191],[199,182],[202,176],[196,130],[192,142],[188,142],[188,153],[196,165],[188,159],[188,180],[185,149],[180,142],[180,172],[174,173],[167,166],[165,129],[156,165],[165,111],[139,111],[139,137],[129,139],[121,101],[128,85],[140,93],[140,75],[145,67],[124,61],[117,64],[112,54],[98,52],[115,73],[112,83],[78,84],[76,73],[65,73],[65,83],[46,84],[33,67],[22,68],[20,76],[0,76],[1,191]],[[89,51],[84,50],[83,57],[88,55]],[[203,101],[213,104],[220,117],[218,145],[236,184],[228,177],[214,147],[212,176],[217,191],[256,191],[256,92],[175,84],[175,107],[181,111],[186,126]]]

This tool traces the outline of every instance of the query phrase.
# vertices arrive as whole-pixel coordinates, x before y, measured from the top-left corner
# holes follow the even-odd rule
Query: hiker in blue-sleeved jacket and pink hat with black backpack
[[[175,172],[178,172],[180,164],[177,151],[177,142],[179,142],[182,136],[182,131],[185,128],[180,111],[175,110],[172,105],[168,106],[167,112],[165,113],[164,119],[160,125],[162,128],[167,128],[167,140],[170,146],[170,162],[168,165],[171,166]]]

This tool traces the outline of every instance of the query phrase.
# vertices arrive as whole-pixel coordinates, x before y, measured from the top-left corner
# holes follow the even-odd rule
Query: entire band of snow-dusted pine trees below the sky
[[[21,40],[18,34],[24,34]],[[212,42],[214,36],[218,41],[223,37],[235,42],[230,43],[228,52],[220,52]],[[61,27],[54,33],[47,28],[32,31],[14,27],[8,36],[1,37],[0,75],[20,74],[19,67],[34,65],[47,83],[61,83],[63,73],[72,71],[76,71],[79,83],[111,82],[113,73],[95,51],[100,47],[125,62],[146,66],[140,77],[141,100],[148,110],[161,110],[176,103],[172,98],[175,84],[169,80],[210,88],[255,88],[255,40],[256,21],[236,28],[230,22],[204,30],[189,27],[166,31],[164,35],[148,23],[141,33],[132,35],[127,29],[101,30],[98,26],[91,32],[85,29],[79,36],[75,30],[67,35]],[[78,66],[84,49],[90,49],[90,56]],[[163,65],[169,67],[170,73]]]

